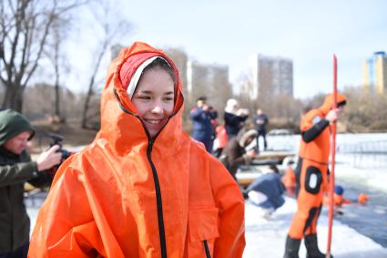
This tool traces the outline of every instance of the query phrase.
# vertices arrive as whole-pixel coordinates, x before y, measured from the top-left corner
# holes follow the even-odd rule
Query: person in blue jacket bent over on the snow
[[[285,203],[282,196],[284,191],[285,186],[276,165],[270,165],[270,172],[261,175],[246,190],[250,201],[262,209],[262,215],[266,218]]]

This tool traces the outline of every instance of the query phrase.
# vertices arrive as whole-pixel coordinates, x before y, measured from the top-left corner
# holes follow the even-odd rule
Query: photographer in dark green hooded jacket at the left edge
[[[56,145],[32,161],[27,141],[34,134],[21,114],[12,109],[0,111],[0,258],[26,257],[30,221],[23,201],[24,183],[47,185],[49,176],[41,171],[56,166],[62,159]]]

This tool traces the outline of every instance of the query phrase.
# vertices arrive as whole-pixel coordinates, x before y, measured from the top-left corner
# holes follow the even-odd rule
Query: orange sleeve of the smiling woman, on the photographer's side
[[[85,184],[76,170],[62,168],[38,213],[28,257],[106,257]],[[119,256],[116,256],[119,257]]]

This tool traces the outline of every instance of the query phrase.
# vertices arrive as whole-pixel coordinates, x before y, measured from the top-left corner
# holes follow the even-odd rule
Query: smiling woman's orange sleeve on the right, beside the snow
[[[210,181],[219,208],[219,238],[214,257],[242,257],[245,248],[244,199],[229,171],[218,161],[210,162]]]

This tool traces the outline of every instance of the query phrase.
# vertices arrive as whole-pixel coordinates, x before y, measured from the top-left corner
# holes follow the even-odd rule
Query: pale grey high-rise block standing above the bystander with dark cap
[[[293,97],[293,62],[290,58],[250,57],[251,99],[272,98],[277,95]]]

